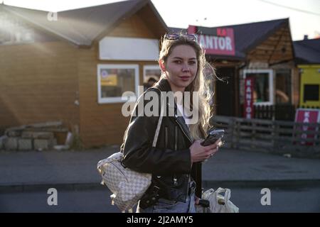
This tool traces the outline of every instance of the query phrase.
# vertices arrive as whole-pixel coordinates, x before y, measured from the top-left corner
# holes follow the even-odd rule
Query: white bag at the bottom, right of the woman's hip
[[[223,196],[224,193],[224,196]],[[239,213],[239,208],[230,201],[230,189],[208,189],[203,192],[202,199],[210,201],[210,213]]]

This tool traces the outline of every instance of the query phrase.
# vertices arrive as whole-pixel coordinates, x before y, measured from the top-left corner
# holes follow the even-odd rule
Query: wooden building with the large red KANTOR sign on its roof
[[[189,26],[188,33],[196,33],[208,62],[225,80],[215,83],[215,114],[244,116],[248,76],[255,78],[255,106],[299,104],[299,71],[289,19],[215,28]]]

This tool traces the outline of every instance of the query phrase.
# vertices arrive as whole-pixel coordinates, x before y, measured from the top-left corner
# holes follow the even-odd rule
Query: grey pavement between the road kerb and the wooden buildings
[[[100,187],[99,160],[119,150],[107,147],[82,151],[0,152],[0,192],[37,189]],[[203,163],[203,187],[308,185],[320,182],[320,160],[220,148]]]

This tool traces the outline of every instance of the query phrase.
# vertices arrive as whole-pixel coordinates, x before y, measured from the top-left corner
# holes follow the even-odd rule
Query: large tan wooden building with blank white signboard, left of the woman
[[[122,93],[157,73],[164,21],[148,0],[46,11],[0,4],[0,128],[63,121],[86,147],[119,144]]]

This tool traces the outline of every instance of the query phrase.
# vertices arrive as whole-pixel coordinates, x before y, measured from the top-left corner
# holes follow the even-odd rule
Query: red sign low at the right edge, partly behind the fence
[[[317,109],[297,109],[296,111],[296,119],[295,122],[302,122],[302,123],[319,123],[320,122],[320,110]],[[309,126],[302,126],[299,127],[301,131],[318,131],[319,128],[309,127]],[[302,138],[316,138],[316,134],[306,134],[302,133]],[[313,145],[310,142],[302,141],[302,144],[305,145]]]

